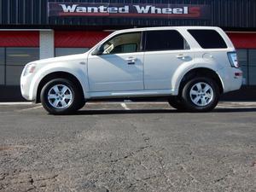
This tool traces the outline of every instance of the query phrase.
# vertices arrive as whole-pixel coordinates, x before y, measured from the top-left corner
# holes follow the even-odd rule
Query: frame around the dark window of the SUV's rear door
[[[147,50],[147,32],[160,32],[160,31],[174,31],[177,32],[182,38],[183,38],[183,49],[155,49],[155,50]],[[189,46],[189,49],[184,49],[185,42]],[[163,30],[148,30],[143,32],[143,51],[145,52],[155,52],[155,51],[184,51],[184,50],[190,50],[191,46],[186,38],[184,38],[183,34],[179,32],[177,29],[163,29]]]

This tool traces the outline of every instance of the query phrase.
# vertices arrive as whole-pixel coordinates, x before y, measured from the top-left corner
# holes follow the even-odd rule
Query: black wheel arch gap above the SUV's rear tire
[[[181,91],[183,90],[183,86],[185,85],[186,82],[188,82],[190,79],[200,76],[213,79],[216,82],[216,84],[218,84],[219,93],[222,94],[224,92],[224,84],[216,71],[207,67],[197,67],[190,69],[189,72],[183,74],[183,77],[177,84],[178,94],[181,93]]]

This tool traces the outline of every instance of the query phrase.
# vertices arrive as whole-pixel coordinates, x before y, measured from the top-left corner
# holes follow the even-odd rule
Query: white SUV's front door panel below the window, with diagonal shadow
[[[90,55],[90,91],[143,90],[143,52]]]

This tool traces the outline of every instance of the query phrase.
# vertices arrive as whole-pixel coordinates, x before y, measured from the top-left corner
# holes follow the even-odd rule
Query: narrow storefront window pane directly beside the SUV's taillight
[[[243,76],[242,84],[248,84],[247,49],[237,49],[236,51]]]

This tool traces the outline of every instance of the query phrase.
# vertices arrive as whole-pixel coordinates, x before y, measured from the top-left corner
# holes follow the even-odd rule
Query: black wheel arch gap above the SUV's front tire
[[[40,82],[38,84],[37,95],[36,95],[36,100],[35,100],[36,103],[41,102],[40,101],[40,93],[41,93],[41,90],[43,89],[44,85],[47,84],[47,82],[49,82],[52,79],[59,79],[59,78],[68,79],[68,80],[71,80],[73,83],[77,84],[79,86],[79,90],[81,90],[81,94],[83,94],[83,97],[84,97],[84,89],[83,89],[83,86],[82,86],[81,82],[79,81],[79,79],[72,73],[58,71],[58,72],[49,73],[49,74],[45,75],[43,79],[40,80]]]

